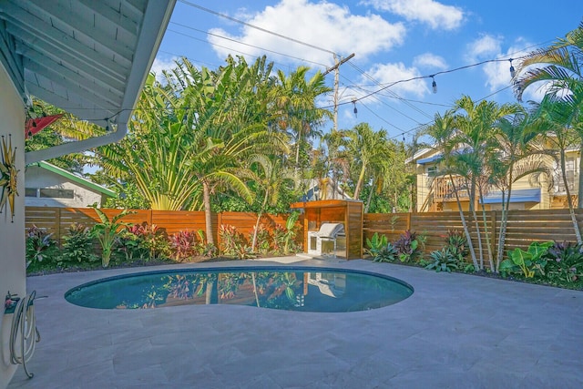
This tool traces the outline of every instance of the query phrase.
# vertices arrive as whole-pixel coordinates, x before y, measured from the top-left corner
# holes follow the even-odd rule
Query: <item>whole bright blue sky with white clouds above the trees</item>
[[[338,128],[366,122],[409,142],[417,128],[464,95],[517,101],[509,59],[516,66],[520,56],[549,46],[583,20],[581,0],[535,3],[177,0],[152,71],[159,74],[182,56],[214,70],[229,55],[249,63],[266,55],[286,74],[307,66],[312,76],[332,67],[334,55],[341,60],[354,54],[339,67]],[[326,85],[333,89],[333,82],[332,71]],[[531,87],[523,101],[542,93]],[[332,110],[332,95],[319,98],[317,106]],[[331,128],[332,121],[320,129]]]

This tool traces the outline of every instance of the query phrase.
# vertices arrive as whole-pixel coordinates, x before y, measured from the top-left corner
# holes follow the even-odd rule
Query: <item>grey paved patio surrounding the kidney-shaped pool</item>
[[[36,301],[42,339],[27,364],[35,377],[19,367],[8,387],[583,387],[583,292],[363,260],[265,263],[281,262],[388,274],[415,292],[365,312],[226,305],[104,311],[63,295],[141,269],[29,277],[28,291],[48,296]]]

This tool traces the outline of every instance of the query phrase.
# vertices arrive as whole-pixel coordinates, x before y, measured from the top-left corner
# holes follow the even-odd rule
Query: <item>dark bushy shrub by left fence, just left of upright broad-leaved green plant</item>
[[[72,223],[63,236],[63,248],[56,258],[57,265],[66,263],[86,263],[99,261],[95,253],[95,236],[92,230],[82,223]]]

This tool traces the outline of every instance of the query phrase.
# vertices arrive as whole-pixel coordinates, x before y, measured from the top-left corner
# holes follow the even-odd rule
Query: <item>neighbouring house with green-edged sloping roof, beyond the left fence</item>
[[[113,190],[97,185],[48,162],[35,162],[26,167],[26,207],[83,208],[100,206],[115,197]]]

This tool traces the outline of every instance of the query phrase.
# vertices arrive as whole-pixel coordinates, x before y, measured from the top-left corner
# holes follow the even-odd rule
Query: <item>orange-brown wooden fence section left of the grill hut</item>
[[[121,210],[101,209],[111,219]],[[166,230],[168,235],[172,235],[180,230],[198,231],[203,230],[207,234],[205,227],[205,216],[203,211],[186,210],[133,210],[135,213],[128,214],[122,221],[131,224],[156,225],[160,229]],[[272,231],[276,225],[285,226],[288,215],[264,214],[261,223]],[[212,231],[215,244],[220,244],[220,225],[232,225],[238,232],[249,239],[257,221],[257,214],[252,212],[220,212],[212,213]],[[92,208],[53,208],[53,207],[26,207],[26,228],[33,224],[39,228],[46,228],[52,232],[56,241],[61,241],[62,237],[72,223],[82,223],[88,227],[99,222],[97,212]],[[299,225],[300,228],[302,226]],[[302,237],[302,230],[298,232],[298,237]]]

